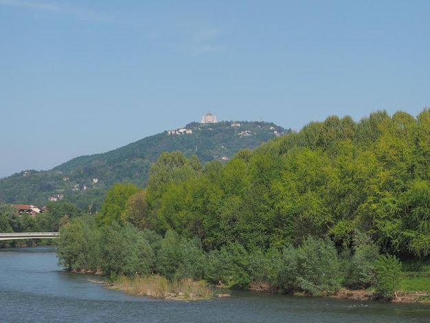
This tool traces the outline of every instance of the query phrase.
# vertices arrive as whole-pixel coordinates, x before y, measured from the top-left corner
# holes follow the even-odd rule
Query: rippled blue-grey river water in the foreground
[[[428,304],[232,291],[197,302],[127,296],[68,274],[55,249],[0,249],[0,322],[430,322]]]

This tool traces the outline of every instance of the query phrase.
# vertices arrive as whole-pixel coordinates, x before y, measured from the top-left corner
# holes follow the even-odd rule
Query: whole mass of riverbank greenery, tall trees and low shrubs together
[[[101,212],[64,225],[58,257],[111,278],[392,298],[399,258],[430,254],[429,161],[429,109],[331,116],[227,164],[163,153],[146,190],[115,184]]]

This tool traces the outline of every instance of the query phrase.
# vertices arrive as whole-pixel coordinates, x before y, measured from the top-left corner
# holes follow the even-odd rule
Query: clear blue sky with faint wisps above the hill
[[[0,177],[200,121],[430,104],[430,1],[0,0]]]

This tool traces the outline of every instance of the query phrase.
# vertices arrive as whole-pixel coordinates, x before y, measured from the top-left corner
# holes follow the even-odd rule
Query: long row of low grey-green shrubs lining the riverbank
[[[204,279],[212,285],[258,287],[311,296],[334,295],[341,287],[373,286],[381,297],[392,298],[398,291],[401,268],[394,270],[392,266],[397,263],[389,261],[394,258],[378,256],[370,238],[356,234],[352,248],[336,247],[327,236],[309,236],[297,247],[285,245],[282,249],[247,251],[236,241],[204,252],[199,239],[185,238],[173,230],[168,230],[163,238],[148,229],[141,231],[133,225],[115,222],[102,228],[93,227],[93,219],[83,217],[72,219],[61,229],[58,258],[71,271],[98,271],[113,281],[120,276],[152,275],[162,276],[166,281],[159,280],[157,287],[150,287],[151,280],[135,280],[136,286],[126,289],[136,295],[155,293],[164,297],[173,293],[163,289],[167,281]],[[341,256],[338,249],[343,250]],[[376,262],[378,257],[380,261]],[[148,291],[142,289],[142,284],[145,288],[149,286]]]

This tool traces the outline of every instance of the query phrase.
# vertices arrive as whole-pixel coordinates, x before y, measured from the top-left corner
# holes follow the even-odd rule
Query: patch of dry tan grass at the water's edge
[[[168,300],[207,300],[215,296],[229,296],[217,294],[216,288],[206,282],[192,280],[169,281],[161,276],[117,278],[113,287],[134,296],[150,296]]]

